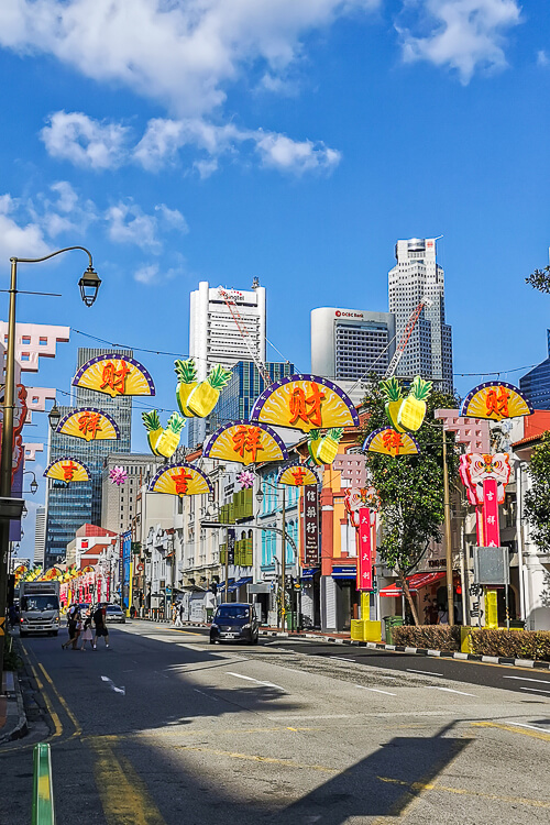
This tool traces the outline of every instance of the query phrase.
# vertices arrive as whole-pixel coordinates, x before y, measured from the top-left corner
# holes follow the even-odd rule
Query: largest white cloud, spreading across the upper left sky
[[[257,67],[285,75],[302,40],[380,0],[2,0],[0,44],[52,54],[178,116],[211,112]]]

